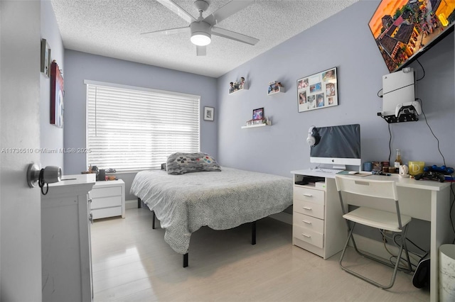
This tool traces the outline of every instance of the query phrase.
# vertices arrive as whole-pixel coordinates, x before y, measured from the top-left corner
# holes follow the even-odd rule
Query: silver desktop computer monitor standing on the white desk
[[[313,135],[316,144],[310,147],[310,162],[343,170],[346,165],[360,166],[359,124],[317,127]]]

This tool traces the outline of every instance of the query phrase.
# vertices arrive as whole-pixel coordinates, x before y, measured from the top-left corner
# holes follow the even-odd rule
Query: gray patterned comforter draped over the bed
[[[204,225],[226,230],[283,211],[292,204],[292,179],[227,167],[181,175],[151,170],[137,174],[131,193],[155,212],[168,245],[186,254],[191,233]]]

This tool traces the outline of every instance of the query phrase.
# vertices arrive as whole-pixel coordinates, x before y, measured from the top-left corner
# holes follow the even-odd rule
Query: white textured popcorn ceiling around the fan
[[[242,63],[333,16],[358,0],[256,0],[218,27],[259,39],[255,45],[212,36],[205,57],[196,56],[189,34],[146,38],[141,33],[188,26],[154,0],[52,0],[66,49],[220,77]],[[193,0],[176,4],[198,18]],[[208,0],[203,16],[230,0]]]

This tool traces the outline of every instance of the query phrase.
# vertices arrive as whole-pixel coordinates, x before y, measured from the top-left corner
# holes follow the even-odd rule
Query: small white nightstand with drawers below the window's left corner
[[[90,191],[93,219],[125,217],[125,183],[122,179],[97,181]]]

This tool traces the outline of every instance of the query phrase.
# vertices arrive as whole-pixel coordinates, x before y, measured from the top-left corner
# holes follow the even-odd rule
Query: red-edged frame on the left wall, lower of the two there
[[[50,123],[58,128],[63,128],[63,74],[57,62],[50,65]]]

